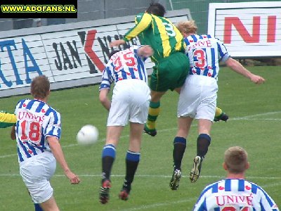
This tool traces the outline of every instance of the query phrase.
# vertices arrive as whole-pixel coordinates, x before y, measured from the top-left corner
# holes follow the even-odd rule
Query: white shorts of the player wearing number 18
[[[55,166],[53,153],[48,151],[20,162],[20,175],[30,191],[33,203],[44,203],[53,196],[49,180],[55,173]]]

